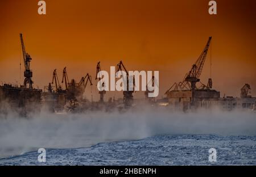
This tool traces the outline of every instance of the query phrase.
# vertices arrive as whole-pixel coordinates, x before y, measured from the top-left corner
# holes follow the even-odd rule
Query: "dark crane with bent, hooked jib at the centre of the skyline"
[[[129,73],[128,71],[126,70],[125,66],[123,65],[123,62],[120,61],[119,64],[117,64],[117,72],[118,71],[122,71],[122,70],[125,70],[125,73],[126,73],[126,81],[127,81],[127,84],[126,84],[126,87],[127,87],[127,90],[126,91],[123,91],[123,103],[125,104],[125,106],[131,106],[132,102],[133,102],[133,92],[134,92],[134,79],[133,79],[133,90],[129,90]]]

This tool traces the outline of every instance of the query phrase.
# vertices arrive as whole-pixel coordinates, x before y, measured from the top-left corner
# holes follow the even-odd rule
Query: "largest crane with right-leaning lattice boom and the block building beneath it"
[[[200,82],[200,75],[203,71],[204,62],[210,47],[209,37],[207,44],[191,70],[185,74],[182,82],[174,83],[169,90],[166,91],[169,100],[169,106],[174,109],[183,109],[184,111],[197,107],[210,107],[217,104],[220,98],[220,92],[212,90],[212,79],[209,78],[207,86]],[[196,83],[200,83],[199,86]]]

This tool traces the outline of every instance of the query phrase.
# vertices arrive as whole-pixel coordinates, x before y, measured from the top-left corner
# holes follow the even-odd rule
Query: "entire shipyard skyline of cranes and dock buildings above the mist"
[[[207,44],[205,45],[203,52],[201,52],[199,58],[197,58],[192,68],[185,74],[181,82],[175,82],[170,89],[166,91],[166,98],[155,100],[155,98],[148,97],[146,90],[144,95],[146,99],[143,100],[143,104],[149,104],[150,106],[159,107],[166,106],[170,110],[188,111],[198,108],[211,108],[219,107],[225,110],[232,109],[252,109],[255,110],[256,98],[250,96],[250,85],[246,83],[241,88],[241,97],[234,98],[232,96],[220,97],[220,91],[213,89],[212,78],[208,79],[207,85],[200,81],[200,75],[204,68],[204,63],[207,58],[207,53],[210,47],[212,37],[209,37]],[[123,99],[109,98],[108,102],[104,100],[106,91],[99,91],[100,100],[93,102],[86,99],[83,95],[85,88],[89,85],[92,87],[92,76],[86,73],[81,77],[79,82],[75,79],[69,81],[67,68],[62,71],[61,86],[57,70],[54,69],[52,73],[52,80],[45,87],[45,91],[36,89],[33,87],[32,70],[30,68],[30,62],[32,60],[30,54],[26,53],[23,36],[20,33],[20,44],[22,47],[23,60],[24,60],[24,82],[21,86],[13,86],[4,84],[0,86],[0,102],[8,103],[11,108],[17,109],[22,114],[26,115],[27,112],[40,110],[42,108],[48,109],[51,112],[71,111],[71,112],[84,112],[86,110],[105,109],[110,111],[113,108],[131,108],[134,107],[141,100],[134,99],[134,91],[123,91]],[[100,76],[101,66],[100,62],[96,65],[96,80]],[[129,72],[122,61],[117,64],[117,71],[125,71],[127,77]],[[127,81],[127,87],[129,86]],[[100,81],[100,80],[99,80]],[[154,86],[158,81],[155,81],[154,76],[147,84]],[[101,83],[104,87],[104,83]],[[135,85],[133,84],[133,87]],[[1,104],[0,112],[5,112],[5,104]]]

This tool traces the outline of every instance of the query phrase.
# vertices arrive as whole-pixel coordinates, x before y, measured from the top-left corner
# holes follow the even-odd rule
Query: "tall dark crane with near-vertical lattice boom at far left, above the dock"
[[[30,70],[30,61],[32,60],[32,58],[30,57],[30,55],[28,53],[26,53],[25,50],[25,45],[23,42],[23,37],[22,37],[22,33],[20,33],[20,42],[22,45],[22,53],[23,53],[23,60],[24,60],[24,66],[25,66],[25,71],[24,71],[24,87],[27,88],[27,84],[28,84],[28,88],[32,89],[33,86],[33,81],[32,81],[32,71]]]

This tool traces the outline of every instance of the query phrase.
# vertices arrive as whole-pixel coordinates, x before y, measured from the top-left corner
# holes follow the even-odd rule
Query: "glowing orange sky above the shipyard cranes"
[[[22,32],[34,86],[51,82],[55,68],[61,77],[64,66],[70,79],[90,73],[95,83],[97,61],[109,71],[122,60],[128,70],[159,70],[162,96],[183,79],[212,36],[214,89],[238,96],[249,83],[255,96],[256,2],[218,0],[217,15],[208,14],[208,2],[48,0],[47,15],[39,15],[37,0],[2,0],[0,81],[23,82]],[[209,56],[200,77],[206,84]]]

